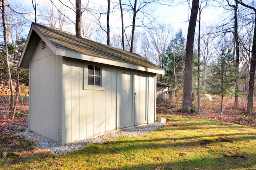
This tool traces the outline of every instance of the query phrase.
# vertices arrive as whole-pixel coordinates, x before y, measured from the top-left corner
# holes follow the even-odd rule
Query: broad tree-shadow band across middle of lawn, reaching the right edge
[[[236,135],[239,137],[232,137]],[[212,139],[211,137],[218,137]],[[194,140],[195,139],[195,140]],[[181,138],[155,138],[155,139],[145,139],[145,140],[117,140],[110,143],[105,143],[102,145],[88,145],[84,148],[86,152],[93,149],[93,154],[104,153],[114,153],[114,152],[133,152],[141,149],[163,149],[163,148],[176,148],[178,150],[186,150],[188,147],[206,147],[207,145],[219,145],[226,142],[249,142],[250,140],[255,140],[256,136],[252,134],[228,134],[228,135],[202,135],[202,136],[191,136],[191,137],[181,137]],[[189,140],[189,141],[187,141]],[[99,147],[98,147],[99,146]],[[101,147],[103,146],[103,147]],[[255,150],[256,152],[256,150]]]

